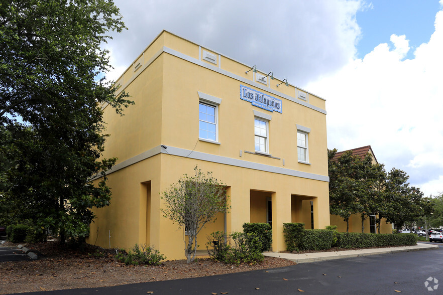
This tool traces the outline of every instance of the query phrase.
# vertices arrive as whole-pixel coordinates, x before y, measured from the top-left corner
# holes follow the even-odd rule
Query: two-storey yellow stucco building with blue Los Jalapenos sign
[[[110,134],[103,157],[111,205],[95,210],[88,242],[151,244],[184,259],[184,229],[160,212],[160,194],[183,174],[211,171],[227,185],[230,212],[198,235],[269,222],[285,250],[283,223],[329,225],[325,100],[273,73],[163,31],[116,83],[135,105],[125,116],[103,105]]]

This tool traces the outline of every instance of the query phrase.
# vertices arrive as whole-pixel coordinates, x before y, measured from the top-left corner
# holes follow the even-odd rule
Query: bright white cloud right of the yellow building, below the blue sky
[[[443,191],[443,11],[411,60],[404,59],[406,37],[391,35],[392,48],[380,44],[307,88],[327,99],[329,148],[371,144],[388,170],[404,170],[412,185],[435,195]]]

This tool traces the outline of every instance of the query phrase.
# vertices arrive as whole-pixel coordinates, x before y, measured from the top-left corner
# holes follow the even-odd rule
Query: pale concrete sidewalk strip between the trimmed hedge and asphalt
[[[395,253],[395,252],[433,250],[433,249],[438,249],[438,247],[439,246],[437,245],[417,243],[417,245],[415,246],[371,248],[371,249],[345,250],[345,251],[335,251],[335,252],[315,252],[315,253],[302,253],[302,254],[265,252],[263,254],[265,256],[288,259],[297,263],[305,263],[305,262],[315,262],[315,261],[351,258],[351,257]]]

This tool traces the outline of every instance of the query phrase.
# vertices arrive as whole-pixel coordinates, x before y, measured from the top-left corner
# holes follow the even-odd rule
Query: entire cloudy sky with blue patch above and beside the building
[[[117,78],[166,29],[326,99],[328,148],[371,145],[443,192],[443,0],[115,0]]]

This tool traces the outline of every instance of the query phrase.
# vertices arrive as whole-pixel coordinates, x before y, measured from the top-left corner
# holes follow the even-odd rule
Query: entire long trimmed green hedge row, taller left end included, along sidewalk
[[[371,234],[337,232],[330,229],[304,229],[303,223],[283,223],[286,250],[327,250],[415,245],[416,234]]]

